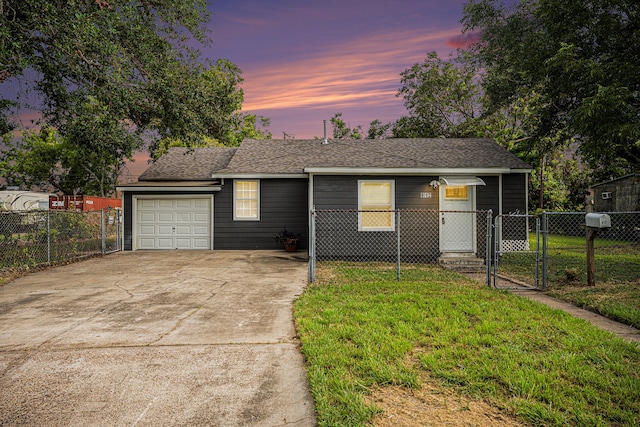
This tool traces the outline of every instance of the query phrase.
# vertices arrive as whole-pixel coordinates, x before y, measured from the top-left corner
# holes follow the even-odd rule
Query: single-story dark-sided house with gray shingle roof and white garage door
[[[236,148],[172,148],[138,182],[118,188],[124,249],[276,249],[273,237],[285,227],[301,233],[306,248],[312,207],[526,213],[530,171],[486,138],[248,139]],[[474,233],[447,224],[456,236]],[[393,224],[362,216],[354,227],[367,233]],[[449,245],[442,252],[471,250],[465,242],[441,245]]]

